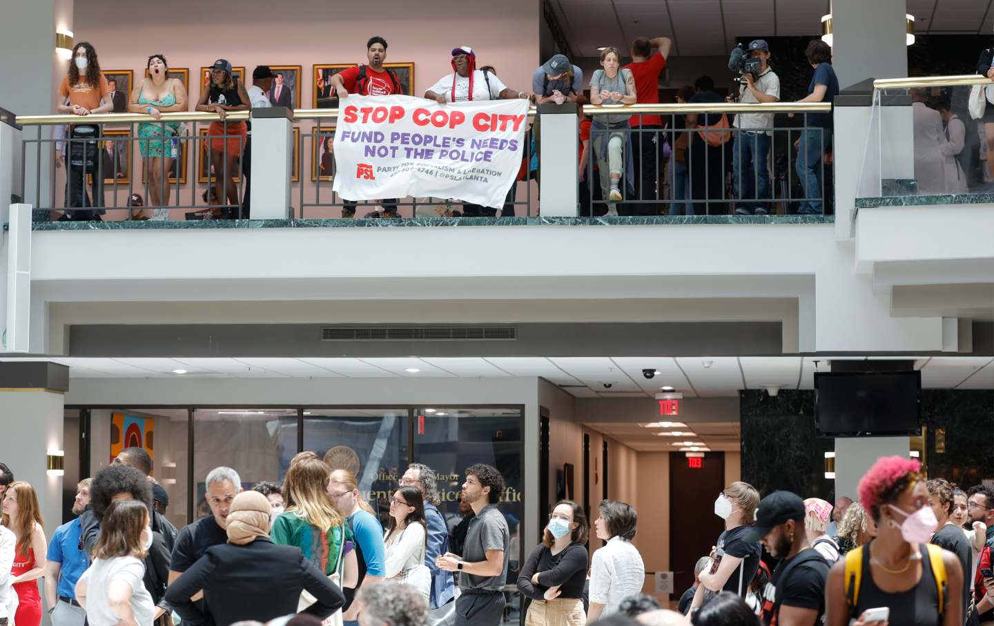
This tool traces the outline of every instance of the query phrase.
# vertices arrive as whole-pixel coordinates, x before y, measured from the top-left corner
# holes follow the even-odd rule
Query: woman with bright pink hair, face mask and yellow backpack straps
[[[963,568],[928,544],[938,522],[928,506],[921,465],[878,459],[859,484],[860,505],[877,537],[839,559],[828,574],[827,626],[962,626]]]

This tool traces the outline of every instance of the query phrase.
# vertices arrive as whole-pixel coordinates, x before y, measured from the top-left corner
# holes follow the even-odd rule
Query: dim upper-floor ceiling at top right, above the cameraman
[[[667,36],[674,55],[726,55],[737,37],[821,35],[830,0],[549,0],[574,54]],[[869,0],[873,1],[873,0]],[[987,34],[991,0],[908,0],[919,34]]]

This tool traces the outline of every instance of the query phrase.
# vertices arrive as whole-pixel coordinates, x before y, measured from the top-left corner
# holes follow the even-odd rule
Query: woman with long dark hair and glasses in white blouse
[[[394,492],[390,500],[390,524],[383,542],[387,552],[386,577],[399,578],[428,599],[431,571],[424,564],[427,530],[421,491],[416,487],[401,487]]]

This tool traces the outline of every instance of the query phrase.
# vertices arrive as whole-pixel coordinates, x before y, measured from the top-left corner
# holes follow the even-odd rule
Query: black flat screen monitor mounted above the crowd
[[[921,433],[921,373],[823,372],[814,375],[815,420],[822,436]]]

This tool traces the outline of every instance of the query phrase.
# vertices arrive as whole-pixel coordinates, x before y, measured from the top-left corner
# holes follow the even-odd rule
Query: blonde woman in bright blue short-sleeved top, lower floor
[[[384,546],[383,525],[373,508],[359,492],[356,475],[347,470],[335,470],[327,481],[328,496],[338,512],[346,517],[349,530],[356,539],[356,560],[359,575],[354,588],[345,591],[345,626],[358,626],[359,605],[353,602],[356,592],[364,583],[382,580],[387,575],[387,557]]]

